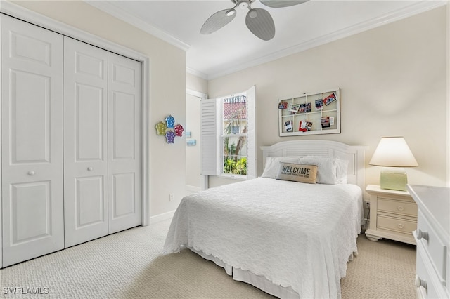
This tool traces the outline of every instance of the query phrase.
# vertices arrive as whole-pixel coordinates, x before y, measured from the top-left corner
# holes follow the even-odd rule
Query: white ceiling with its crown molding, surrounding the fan
[[[263,41],[245,26],[248,10],[236,8],[236,18],[212,34],[200,28],[216,11],[232,8],[230,0],[87,1],[160,39],[186,50],[188,72],[213,79],[246,67],[281,58],[356,34],[388,22],[428,11],[445,0],[310,0],[286,8],[269,8],[274,39]]]

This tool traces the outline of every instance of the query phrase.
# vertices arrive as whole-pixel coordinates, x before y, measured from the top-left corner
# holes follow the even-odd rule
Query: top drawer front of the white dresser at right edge
[[[426,238],[420,238],[420,232],[427,234]],[[430,223],[425,219],[422,212],[418,213],[418,223],[416,231],[416,242],[420,243],[428,252],[433,267],[435,268],[439,279],[442,284],[446,283],[446,255],[447,250],[443,240],[439,239],[435,230],[431,227]]]

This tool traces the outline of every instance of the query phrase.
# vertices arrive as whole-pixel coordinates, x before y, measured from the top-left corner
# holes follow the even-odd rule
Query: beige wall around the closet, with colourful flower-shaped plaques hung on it
[[[157,136],[158,121],[172,114],[185,125],[186,53],[83,1],[18,1],[20,6],[126,46],[150,58],[150,217],[173,211],[184,196],[185,138],[172,145]],[[174,201],[169,202],[169,194]]]

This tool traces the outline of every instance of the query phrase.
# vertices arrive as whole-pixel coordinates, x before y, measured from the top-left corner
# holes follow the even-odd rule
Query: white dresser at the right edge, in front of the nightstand
[[[450,188],[408,185],[418,206],[418,298],[450,298]]]

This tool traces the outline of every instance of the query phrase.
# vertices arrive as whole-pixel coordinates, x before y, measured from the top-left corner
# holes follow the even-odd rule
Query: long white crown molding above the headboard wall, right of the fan
[[[434,8],[438,8],[440,6],[444,6],[448,3],[447,0],[437,0],[437,1],[420,1],[406,8],[401,8],[397,11],[386,13],[378,18],[367,20],[365,22],[360,22],[359,24],[353,25],[351,27],[347,27],[344,29],[340,29],[335,32],[331,32],[330,34],[325,34],[323,36],[319,36],[316,39],[310,39],[309,41],[304,41],[301,44],[297,44],[290,48],[285,48],[281,51],[277,51],[266,55],[262,58],[257,58],[254,60],[250,60],[248,62],[239,63],[233,67],[229,67],[227,69],[219,70],[217,72],[212,72],[207,75],[207,79],[216,79],[219,77],[226,76],[227,74],[232,74],[234,72],[241,71],[243,69],[247,69],[249,67],[255,67],[257,65],[262,65],[266,62],[271,62],[273,60],[286,57],[288,55],[293,55],[295,53],[300,53],[302,51],[308,50],[309,48],[314,48],[316,46],[321,46],[323,44],[328,44],[331,41],[337,41],[338,39],[343,39],[347,36],[352,36],[354,34],[358,34],[369,29],[373,29],[376,27],[380,27],[383,25],[387,25],[391,22],[395,22],[397,20],[401,20],[404,18],[411,17],[413,15],[417,15],[419,13],[424,13],[425,11],[430,11]],[[450,5],[450,4],[449,4]]]

